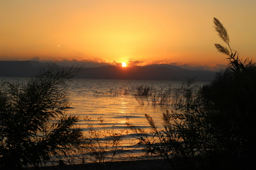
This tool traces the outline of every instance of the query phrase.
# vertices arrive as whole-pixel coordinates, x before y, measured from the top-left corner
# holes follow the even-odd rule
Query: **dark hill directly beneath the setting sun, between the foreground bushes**
[[[140,79],[140,80],[186,80],[196,78],[198,81],[213,80],[215,72],[207,70],[174,71],[163,66],[116,67],[102,66],[84,68],[77,78]]]

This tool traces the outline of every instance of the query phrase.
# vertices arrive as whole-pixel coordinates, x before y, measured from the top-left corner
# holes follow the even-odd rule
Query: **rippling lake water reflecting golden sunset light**
[[[21,82],[29,78],[0,78],[9,82]],[[195,81],[194,85],[198,88],[205,83]],[[177,88],[181,85],[181,81],[158,81],[158,80],[124,80],[124,79],[78,79],[74,78],[68,82],[71,109],[67,114],[75,114],[80,116],[79,126],[83,129],[85,136],[90,136],[88,130],[88,121],[85,117],[91,118],[94,128],[101,130],[98,118],[102,118],[106,123],[106,128],[111,129],[114,126],[115,132],[128,131],[122,145],[127,150],[139,153],[140,150],[134,147],[135,134],[126,128],[125,122],[129,118],[129,122],[139,128],[143,128],[149,132],[150,127],[145,119],[145,113],[149,114],[161,126],[162,113],[166,109],[174,109],[171,106],[152,106],[139,104],[133,95],[136,88],[140,85],[153,87],[157,91],[161,88],[167,90]],[[163,90],[163,91],[164,91]]]

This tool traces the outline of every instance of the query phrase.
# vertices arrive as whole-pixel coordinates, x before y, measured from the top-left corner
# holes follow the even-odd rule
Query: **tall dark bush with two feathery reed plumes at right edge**
[[[230,48],[226,28],[216,18],[213,19],[215,31],[228,45],[226,48],[215,44],[216,49],[227,55],[229,67],[218,73],[213,82],[202,87],[201,93],[206,107],[213,107],[211,125],[219,143],[218,160],[223,164],[240,165],[242,168],[254,161],[255,103],[256,103],[256,65]]]

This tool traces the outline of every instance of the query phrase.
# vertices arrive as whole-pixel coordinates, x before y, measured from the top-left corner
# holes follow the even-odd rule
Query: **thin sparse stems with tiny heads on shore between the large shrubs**
[[[83,141],[77,148],[82,163],[100,163],[96,164],[100,166],[96,169],[104,169],[104,162],[117,161],[124,157],[122,143],[128,133],[126,129],[116,130],[114,126],[109,128],[102,118],[97,119],[97,125],[93,125],[94,121],[88,117],[84,120],[87,121],[89,134],[84,134]]]

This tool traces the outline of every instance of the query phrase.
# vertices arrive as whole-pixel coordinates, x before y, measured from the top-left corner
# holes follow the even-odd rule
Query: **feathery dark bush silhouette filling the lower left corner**
[[[49,64],[27,82],[0,83],[0,167],[39,167],[53,155],[66,155],[82,136],[70,109],[68,85],[81,67]]]

